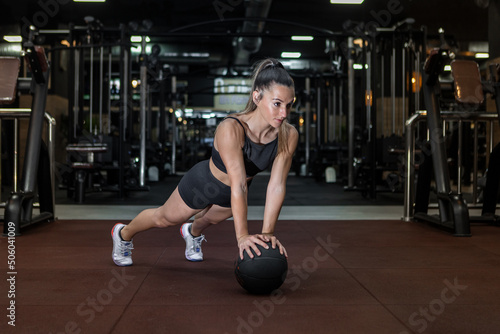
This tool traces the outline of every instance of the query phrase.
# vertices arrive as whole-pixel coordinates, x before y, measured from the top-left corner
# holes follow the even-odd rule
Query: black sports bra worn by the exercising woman
[[[227,117],[235,119],[245,131],[245,127],[236,117]],[[243,145],[243,159],[245,161],[245,170],[247,177],[252,177],[258,173],[266,170],[276,158],[276,153],[278,150],[278,137],[270,143],[261,145],[254,143],[248,138],[245,131],[245,144]],[[226,166],[222,162],[222,158],[219,152],[215,149],[215,145],[212,147],[212,161],[215,167],[227,173]]]

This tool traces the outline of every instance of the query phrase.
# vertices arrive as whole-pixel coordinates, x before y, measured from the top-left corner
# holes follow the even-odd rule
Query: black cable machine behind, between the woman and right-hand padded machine
[[[348,179],[345,190],[375,198],[402,192],[404,124],[420,106],[419,62],[425,30],[413,19],[365,31],[347,21]],[[356,70],[354,70],[356,66]],[[361,102],[362,101],[362,102]]]

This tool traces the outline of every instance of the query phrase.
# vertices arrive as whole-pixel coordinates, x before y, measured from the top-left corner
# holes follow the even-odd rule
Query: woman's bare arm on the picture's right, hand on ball
[[[271,177],[267,185],[264,221],[262,223],[262,234],[267,235],[270,238],[273,248],[278,245],[281,253],[284,253],[285,255],[286,251],[284,247],[274,237],[274,228],[278,221],[283,201],[285,200],[286,180],[292,165],[293,154],[297,147],[299,138],[297,130],[293,126],[289,126],[291,129],[288,137],[288,152],[279,154],[274,160],[271,169]]]

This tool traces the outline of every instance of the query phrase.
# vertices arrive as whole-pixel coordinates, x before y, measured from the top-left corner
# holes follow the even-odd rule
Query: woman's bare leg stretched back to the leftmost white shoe
[[[132,240],[139,232],[149,230],[153,227],[168,227],[186,222],[192,216],[200,212],[192,209],[184,203],[177,188],[161,207],[146,209],[139,213],[120,232],[123,240]]]

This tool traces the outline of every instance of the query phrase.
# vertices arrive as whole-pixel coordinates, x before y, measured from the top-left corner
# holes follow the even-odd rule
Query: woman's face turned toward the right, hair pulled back
[[[295,91],[292,87],[274,84],[269,89],[262,91],[262,94],[259,91],[254,91],[253,99],[262,116],[272,127],[278,128],[290,114],[295,100]]]

